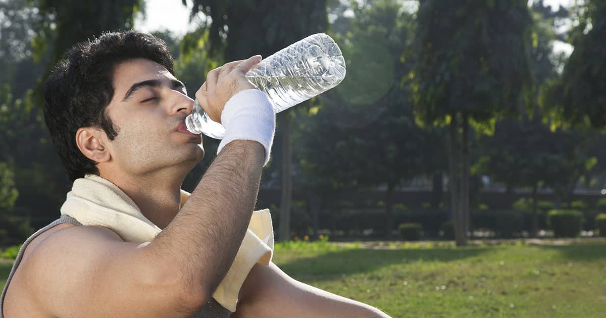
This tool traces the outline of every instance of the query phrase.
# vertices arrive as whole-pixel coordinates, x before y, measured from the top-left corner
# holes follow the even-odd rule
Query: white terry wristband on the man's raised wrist
[[[221,124],[225,127],[225,136],[217,153],[231,141],[256,141],[265,148],[263,165],[267,164],[276,130],[276,113],[265,93],[250,89],[231,96],[221,113]]]

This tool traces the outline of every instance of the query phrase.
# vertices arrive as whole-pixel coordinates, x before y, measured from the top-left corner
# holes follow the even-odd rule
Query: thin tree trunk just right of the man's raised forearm
[[[278,238],[281,241],[290,240],[290,203],[293,196],[293,184],[290,177],[291,145],[290,145],[290,113],[292,109],[282,112],[282,196],[280,200],[280,230]]]

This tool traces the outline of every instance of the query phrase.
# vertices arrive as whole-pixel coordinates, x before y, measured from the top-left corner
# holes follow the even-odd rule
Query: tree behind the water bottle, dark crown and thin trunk
[[[205,25],[209,32],[210,50],[224,56],[225,61],[256,54],[269,56],[305,36],[326,31],[328,26],[326,0],[288,0],[279,4],[268,0],[195,0],[191,16],[198,12],[212,19],[210,24]],[[284,111],[279,116],[278,133],[282,139],[280,240],[290,239],[292,116],[292,110]]]

